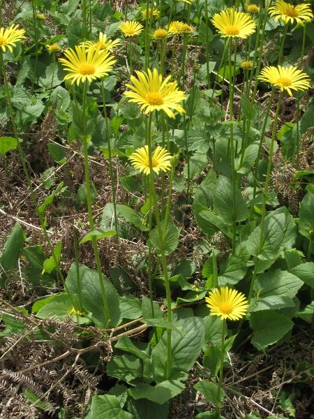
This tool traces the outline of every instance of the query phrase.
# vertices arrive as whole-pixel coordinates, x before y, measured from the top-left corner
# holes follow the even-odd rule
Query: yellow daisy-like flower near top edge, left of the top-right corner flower
[[[247,38],[255,32],[256,28],[255,22],[249,15],[237,12],[232,8],[216,13],[211,22],[213,22],[223,38],[226,36]]]

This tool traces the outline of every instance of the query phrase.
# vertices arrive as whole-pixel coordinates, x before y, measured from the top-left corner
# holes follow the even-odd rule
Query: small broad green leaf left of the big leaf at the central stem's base
[[[141,360],[134,355],[114,356],[107,363],[107,375],[127,383],[137,377],[142,378]]]

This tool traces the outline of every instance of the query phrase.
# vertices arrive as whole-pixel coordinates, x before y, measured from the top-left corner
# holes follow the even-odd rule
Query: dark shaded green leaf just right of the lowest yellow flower
[[[294,324],[290,318],[272,310],[253,312],[249,321],[254,332],[251,342],[260,351],[271,344],[276,344],[293,328]]]

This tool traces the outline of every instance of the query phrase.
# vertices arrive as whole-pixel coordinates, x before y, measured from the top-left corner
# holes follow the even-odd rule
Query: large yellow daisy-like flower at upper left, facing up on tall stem
[[[75,50],[64,51],[66,59],[61,58],[59,61],[64,66],[64,70],[70,71],[64,80],[72,78],[72,84],[76,80],[77,86],[85,80],[91,82],[91,80],[108,75],[116,62],[108,51],[99,54],[100,47],[90,47],[87,51],[85,45],[82,45],[75,46]]]

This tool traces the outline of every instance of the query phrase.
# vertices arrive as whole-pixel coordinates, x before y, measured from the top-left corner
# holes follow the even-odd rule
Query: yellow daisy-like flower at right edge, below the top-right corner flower
[[[294,66],[265,67],[260,72],[258,79],[280,87],[281,91],[287,90],[290,96],[292,96],[291,89],[306,90],[311,87],[308,75]]]

